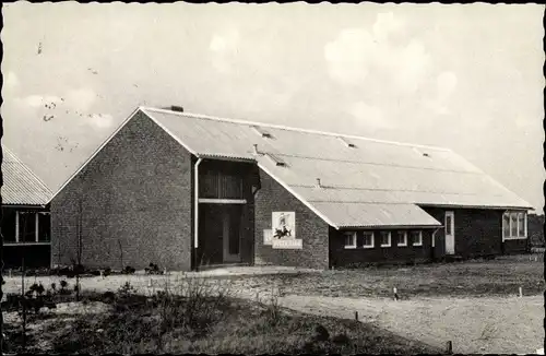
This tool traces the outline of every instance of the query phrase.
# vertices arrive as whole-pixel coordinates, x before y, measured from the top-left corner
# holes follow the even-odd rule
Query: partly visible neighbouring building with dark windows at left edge
[[[4,268],[49,266],[52,192],[2,145],[2,257]]]

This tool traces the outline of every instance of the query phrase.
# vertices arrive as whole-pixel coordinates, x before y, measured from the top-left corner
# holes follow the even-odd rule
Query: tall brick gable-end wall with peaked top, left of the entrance
[[[191,155],[142,112],[51,203],[51,263],[190,270]],[[121,263],[122,260],[122,263]]]

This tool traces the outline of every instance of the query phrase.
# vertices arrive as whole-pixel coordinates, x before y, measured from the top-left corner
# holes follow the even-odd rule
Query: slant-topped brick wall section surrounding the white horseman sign
[[[259,174],[261,189],[254,200],[254,263],[328,269],[329,225],[263,170]],[[296,213],[296,236],[302,239],[302,249],[273,249],[263,245],[263,230],[272,228],[275,211]]]

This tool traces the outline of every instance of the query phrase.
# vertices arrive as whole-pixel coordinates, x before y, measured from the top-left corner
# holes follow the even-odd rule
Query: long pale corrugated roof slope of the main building
[[[416,204],[531,207],[463,157],[442,147],[155,108],[141,110],[195,155],[257,161],[337,226],[438,223]],[[271,137],[257,134],[256,127]],[[270,153],[286,166],[277,166],[266,155],[256,155],[254,144],[259,153]],[[313,188],[317,178],[324,188]]]

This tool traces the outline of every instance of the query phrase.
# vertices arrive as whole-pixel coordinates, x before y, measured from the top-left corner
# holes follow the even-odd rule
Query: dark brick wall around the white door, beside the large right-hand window
[[[454,212],[455,254],[478,257],[502,253],[502,211],[485,209],[424,207],[440,223],[444,223],[446,211]],[[444,254],[444,230],[436,235],[437,256]]]

